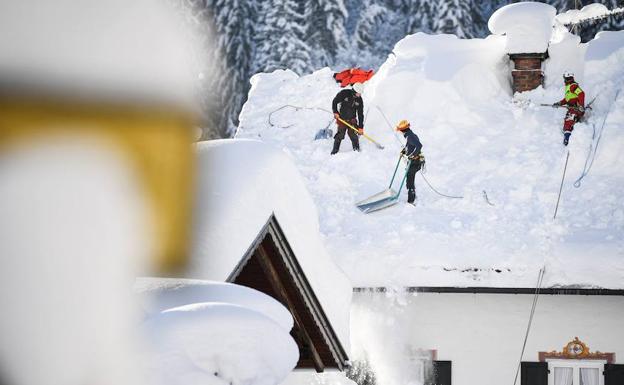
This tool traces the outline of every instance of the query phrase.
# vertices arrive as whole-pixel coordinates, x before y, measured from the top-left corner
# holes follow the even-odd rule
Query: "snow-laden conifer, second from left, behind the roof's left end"
[[[294,0],[261,3],[260,24],[255,31],[255,72],[288,68],[303,74],[312,69],[303,8]]]

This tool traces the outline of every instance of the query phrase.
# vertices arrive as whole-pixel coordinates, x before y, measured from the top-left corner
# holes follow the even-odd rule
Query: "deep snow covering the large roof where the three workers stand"
[[[408,36],[364,91],[365,132],[386,148],[362,138],[361,153],[346,139],[330,156],[331,139],[313,140],[328,124],[335,130],[323,111],[339,91],[329,69],[302,77],[258,74],[237,137],[260,138],[295,160],[328,250],[354,286],[531,287],[545,264],[546,286],[622,288],[624,202],[617,194],[624,183],[618,150],[624,97],[614,97],[624,68],[616,43],[622,32],[612,33],[583,45],[562,37],[557,43],[565,38],[566,47],[544,65],[546,88],[519,95],[518,104],[511,100],[504,37]],[[565,111],[538,104],[562,98],[563,63],[578,66],[587,100],[598,98],[572,136],[553,221],[566,156]],[[575,188],[608,111],[591,171]],[[418,206],[401,202],[363,215],[355,202],[385,189],[392,176],[404,139],[391,127],[401,119],[412,122],[427,158],[426,173],[416,177]]]

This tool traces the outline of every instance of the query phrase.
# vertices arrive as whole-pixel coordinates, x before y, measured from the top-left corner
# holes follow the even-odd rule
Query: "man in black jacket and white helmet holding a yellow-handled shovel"
[[[332,102],[332,110],[334,111],[336,124],[338,124],[338,131],[336,132],[336,135],[334,135],[334,147],[331,152],[332,155],[337,153],[340,149],[340,142],[344,139],[345,132],[349,134],[349,139],[351,139],[351,144],[353,145],[353,151],[360,151],[358,133],[360,135],[364,133],[364,101],[362,100],[363,88],[364,86],[362,83],[355,83],[353,85],[353,89],[345,89],[338,92]],[[338,118],[346,121],[353,127],[356,127],[358,132],[355,132],[351,128],[347,127],[347,125],[339,121]]]

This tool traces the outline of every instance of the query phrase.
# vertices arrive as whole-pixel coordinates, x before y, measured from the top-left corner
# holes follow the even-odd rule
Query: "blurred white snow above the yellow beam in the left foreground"
[[[0,3],[0,83],[40,95],[193,106],[193,39],[165,1]]]

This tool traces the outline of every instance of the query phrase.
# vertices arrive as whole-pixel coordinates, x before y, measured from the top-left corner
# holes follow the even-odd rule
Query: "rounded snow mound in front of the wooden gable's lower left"
[[[278,384],[297,363],[292,317],[261,292],[157,278],[139,279],[136,288],[148,312],[150,384]]]

